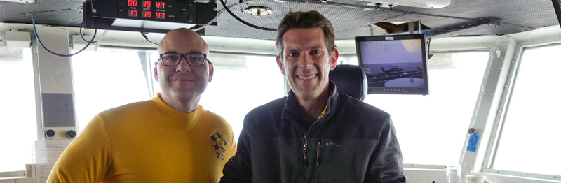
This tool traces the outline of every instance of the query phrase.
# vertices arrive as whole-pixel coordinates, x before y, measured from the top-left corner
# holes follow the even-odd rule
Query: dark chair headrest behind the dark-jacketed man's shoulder
[[[355,65],[337,65],[329,72],[329,79],[337,86],[337,92],[363,101],[368,92],[368,82],[363,68]]]

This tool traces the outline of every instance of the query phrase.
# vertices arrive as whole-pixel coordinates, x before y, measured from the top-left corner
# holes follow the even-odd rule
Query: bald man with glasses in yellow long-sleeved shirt
[[[236,154],[231,126],[198,102],[214,68],[208,45],[189,29],[158,45],[149,101],[93,117],[65,149],[47,182],[218,182]]]

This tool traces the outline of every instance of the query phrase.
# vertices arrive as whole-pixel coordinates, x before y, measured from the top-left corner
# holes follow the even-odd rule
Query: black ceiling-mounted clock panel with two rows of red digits
[[[2,1],[2,0],[0,0]],[[211,22],[217,3],[191,0],[93,0],[84,3],[88,28],[167,32]],[[113,7],[115,5],[116,7]],[[0,10],[1,11],[1,10]],[[95,11],[95,12],[94,12]],[[217,25],[211,22],[210,25]],[[165,31],[164,31],[165,30]]]

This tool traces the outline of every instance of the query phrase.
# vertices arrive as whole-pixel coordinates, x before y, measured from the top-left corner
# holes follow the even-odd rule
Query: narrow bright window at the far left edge
[[[37,139],[32,52],[11,47],[0,52],[0,172],[25,170]]]

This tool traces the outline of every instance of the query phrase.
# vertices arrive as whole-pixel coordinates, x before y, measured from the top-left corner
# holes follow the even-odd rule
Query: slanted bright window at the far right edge
[[[522,51],[492,169],[561,175],[559,50]]]

